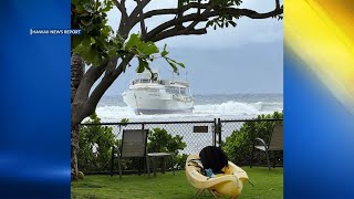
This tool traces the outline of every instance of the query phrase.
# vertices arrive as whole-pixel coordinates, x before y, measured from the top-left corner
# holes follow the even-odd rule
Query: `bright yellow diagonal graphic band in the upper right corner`
[[[354,112],[354,1],[287,0],[284,39],[331,93]]]

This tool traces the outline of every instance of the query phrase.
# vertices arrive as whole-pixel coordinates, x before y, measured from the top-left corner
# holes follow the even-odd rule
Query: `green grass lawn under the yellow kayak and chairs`
[[[248,198],[283,198],[283,169],[275,168],[271,171],[266,167],[243,167],[252,187],[247,182],[240,199]],[[123,176],[85,176],[84,180],[74,181],[71,185],[72,198],[194,198],[195,188],[187,181],[185,171],[165,175],[157,172],[157,177],[129,175]],[[200,198],[212,198],[208,192]]]

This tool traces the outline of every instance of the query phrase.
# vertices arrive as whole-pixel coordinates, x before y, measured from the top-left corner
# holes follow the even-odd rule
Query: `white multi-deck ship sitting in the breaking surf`
[[[194,108],[188,82],[160,80],[155,70],[137,73],[122,96],[137,115],[191,113]]]

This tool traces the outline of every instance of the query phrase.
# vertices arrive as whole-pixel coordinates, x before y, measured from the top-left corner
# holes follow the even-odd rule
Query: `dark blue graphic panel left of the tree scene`
[[[0,198],[70,198],[70,1],[4,1]]]

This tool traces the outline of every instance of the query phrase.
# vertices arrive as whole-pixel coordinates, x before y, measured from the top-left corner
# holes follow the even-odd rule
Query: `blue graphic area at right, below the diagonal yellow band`
[[[353,198],[354,116],[284,54],[284,198]]]

